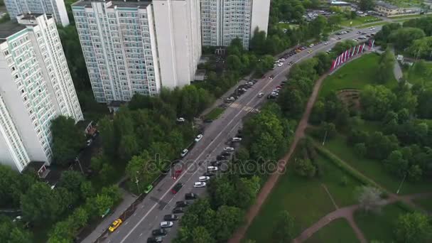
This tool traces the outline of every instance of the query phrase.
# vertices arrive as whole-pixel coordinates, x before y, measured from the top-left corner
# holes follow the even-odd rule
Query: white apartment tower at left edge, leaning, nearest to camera
[[[0,24],[0,163],[50,163],[50,121],[82,120],[54,19],[25,14]]]

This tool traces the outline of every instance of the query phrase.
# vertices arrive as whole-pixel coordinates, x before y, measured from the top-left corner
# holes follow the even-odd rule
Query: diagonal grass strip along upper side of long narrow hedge
[[[380,161],[357,156],[354,149],[346,143],[345,136],[338,134],[334,139],[326,141],[325,148],[392,193],[396,192],[401,183],[401,179],[386,171]],[[423,180],[420,183],[411,183],[405,180],[399,193],[424,193],[431,190],[432,181],[430,180]]]

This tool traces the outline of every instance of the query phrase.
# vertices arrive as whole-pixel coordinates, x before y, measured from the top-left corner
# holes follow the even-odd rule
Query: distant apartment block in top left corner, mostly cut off
[[[4,4],[13,21],[23,13],[50,13],[56,23],[61,26],[69,25],[64,0],[4,0]]]

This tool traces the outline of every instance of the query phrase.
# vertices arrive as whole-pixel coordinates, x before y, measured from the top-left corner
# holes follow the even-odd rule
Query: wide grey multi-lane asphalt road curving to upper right
[[[379,26],[375,27],[374,31],[369,31],[369,28],[363,29],[367,33],[379,31]],[[340,36],[342,40],[350,40],[358,36],[358,29],[352,28],[353,31]],[[244,95],[240,96],[235,102],[229,105],[225,112],[212,124],[208,125],[204,131],[204,136],[193,149],[185,156],[183,165],[183,173],[173,180],[169,174],[163,178],[158,185],[149,193],[138,206],[134,215],[125,220],[123,224],[113,233],[110,233],[104,240],[99,242],[112,243],[136,243],[146,242],[148,237],[151,237],[151,231],[159,228],[159,223],[163,221],[163,215],[171,214],[175,207],[175,202],[185,199],[185,193],[197,193],[202,195],[205,193],[205,188],[194,189],[193,183],[198,181],[198,177],[205,173],[207,165],[214,160],[215,156],[219,155],[223,148],[227,146],[225,143],[237,134],[237,129],[242,126],[242,118],[254,108],[266,100],[271,90],[273,90],[281,81],[286,80],[286,75],[291,68],[288,65],[293,61],[298,63],[306,58],[311,58],[315,53],[326,51],[335,45],[338,40],[332,36],[328,41],[328,45],[324,43],[315,45],[312,48],[303,50],[303,52],[291,56],[286,59],[284,65],[269,71],[264,79],[260,79],[253,87],[249,88]],[[307,50],[312,49],[312,53],[307,53]],[[274,75],[272,80],[269,76]],[[264,92],[264,97],[259,98],[258,94]],[[178,169],[178,168],[176,168]],[[184,183],[183,188],[173,195],[171,188],[178,183]],[[178,221],[174,222],[174,226],[168,229],[168,234],[164,237],[163,242],[171,242],[175,237],[178,229]]]

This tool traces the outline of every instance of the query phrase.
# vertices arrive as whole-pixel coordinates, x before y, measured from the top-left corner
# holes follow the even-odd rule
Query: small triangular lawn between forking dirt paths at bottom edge
[[[315,232],[306,243],[356,243],[360,242],[355,236],[350,224],[344,218],[334,220],[330,224],[325,225],[322,229]]]

